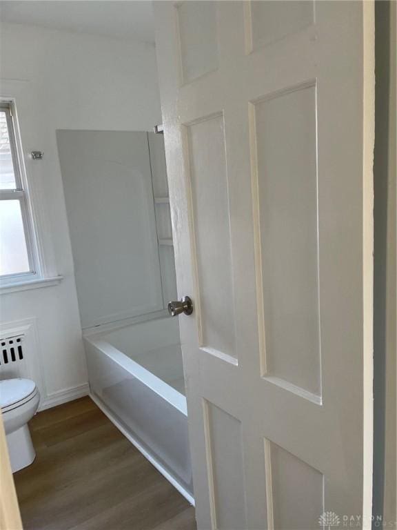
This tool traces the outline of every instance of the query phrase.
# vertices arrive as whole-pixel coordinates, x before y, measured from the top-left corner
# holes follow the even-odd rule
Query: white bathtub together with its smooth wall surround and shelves
[[[194,502],[162,135],[57,132],[90,395]]]

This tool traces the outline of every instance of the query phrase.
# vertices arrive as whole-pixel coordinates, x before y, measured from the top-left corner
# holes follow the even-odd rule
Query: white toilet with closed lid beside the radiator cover
[[[0,381],[0,406],[12,473],[32,464],[36,456],[28,421],[36,413],[39,401],[40,394],[34,381],[17,378]]]

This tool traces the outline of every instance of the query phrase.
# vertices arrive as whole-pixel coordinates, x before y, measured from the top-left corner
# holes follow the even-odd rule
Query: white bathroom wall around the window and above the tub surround
[[[87,376],[56,130],[152,130],[161,122],[154,47],[1,25],[0,93],[17,98],[23,151],[56,286],[1,295],[0,322],[36,317],[47,404],[83,393]],[[31,150],[43,150],[32,161]]]

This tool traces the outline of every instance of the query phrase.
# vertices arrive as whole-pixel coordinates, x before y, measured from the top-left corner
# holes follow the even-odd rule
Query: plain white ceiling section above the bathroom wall
[[[3,22],[154,43],[150,0],[1,0]]]

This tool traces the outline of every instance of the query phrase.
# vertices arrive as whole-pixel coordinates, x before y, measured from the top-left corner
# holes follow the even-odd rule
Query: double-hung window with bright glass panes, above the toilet
[[[0,101],[0,279],[37,277],[32,221],[22,175],[14,105]]]

